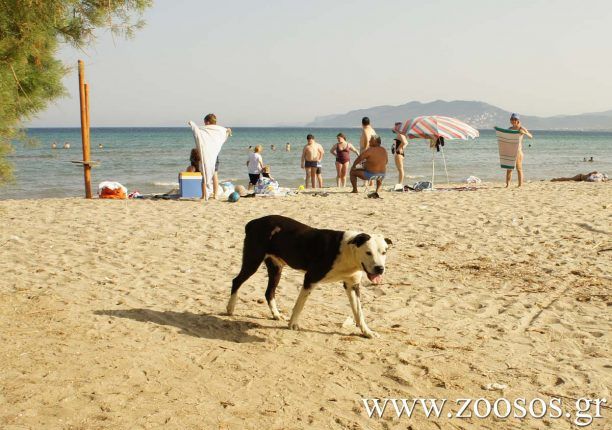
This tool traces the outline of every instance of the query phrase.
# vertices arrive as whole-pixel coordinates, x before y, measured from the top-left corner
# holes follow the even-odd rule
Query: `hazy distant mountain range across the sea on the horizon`
[[[477,101],[410,102],[400,106],[375,106],[345,114],[319,116],[308,127],[359,127],[367,116],[374,128],[393,127],[396,121],[406,121],[420,115],[444,115],[458,118],[474,128],[506,126],[511,112]],[[519,112],[520,114],[520,112]],[[612,110],[580,115],[539,117],[521,114],[525,127],[533,130],[612,130]]]

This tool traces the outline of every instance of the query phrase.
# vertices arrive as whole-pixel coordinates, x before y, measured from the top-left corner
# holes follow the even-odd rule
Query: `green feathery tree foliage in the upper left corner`
[[[143,26],[152,0],[0,0],[0,183],[12,177],[6,154],[22,137],[20,125],[62,96],[68,68],[60,43],[83,48],[94,30],[125,37]]]

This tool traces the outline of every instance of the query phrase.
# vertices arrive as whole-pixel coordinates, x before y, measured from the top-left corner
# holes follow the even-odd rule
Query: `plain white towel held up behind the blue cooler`
[[[200,170],[206,178],[206,200],[208,200],[213,192],[212,177],[215,173],[215,162],[221,152],[221,146],[227,140],[227,128],[213,124],[200,128],[193,121],[189,121],[189,126],[193,132],[196,148],[200,150]]]

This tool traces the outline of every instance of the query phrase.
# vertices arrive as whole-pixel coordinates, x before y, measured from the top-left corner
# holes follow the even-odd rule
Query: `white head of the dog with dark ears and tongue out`
[[[351,238],[348,244],[355,247],[357,261],[370,282],[380,283],[385,272],[387,248],[393,244],[391,239],[387,239],[380,234],[359,233]]]

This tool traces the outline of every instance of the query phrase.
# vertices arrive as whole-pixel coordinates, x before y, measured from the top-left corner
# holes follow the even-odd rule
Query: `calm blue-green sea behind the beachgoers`
[[[359,143],[360,129],[306,129],[306,128],[233,128],[234,135],[224,145],[220,155],[219,176],[246,184],[246,160],[249,146],[263,145],[263,159],[269,164],[272,176],[281,186],[301,183],[300,155],[306,135],[313,133],[319,143],[329,150],[335,136],[343,132],[355,145]],[[383,145],[392,143],[391,131],[379,129]],[[70,197],[83,195],[83,169],[71,160],[82,159],[78,128],[31,129],[30,137],[37,146],[15,143],[9,161],[15,167],[15,182],[0,186],[0,199]],[[527,180],[573,176],[593,170],[612,174],[612,132],[534,132],[535,139],[525,140],[524,170]],[[71,149],[51,149],[69,142]],[[285,144],[291,151],[285,151]],[[405,170],[412,184],[416,180],[431,178],[432,152],[424,140],[411,141],[406,149]],[[531,146],[529,146],[531,144]],[[102,145],[99,148],[99,145]],[[183,128],[93,128],[91,130],[92,159],[99,160],[92,170],[94,193],[101,181],[118,181],[130,191],[163,193],[177,186],[178,172],[189,164],[189,152],[194,145],[193,135]],[[271,150],[271,145],[276,150]],[[504,171],[499,168],[497,142],[492,130],[481,131],[481,137],[468,142],[448,141],[444,148],[451,181],[462,181],[474,175],[484,181],[503,181]],[[354,156],[354,155],[353,155]],[[593,157],[593,162],[584,158]],[[435,154],[436,182],[445,182],[441,153]],[[395,166],[390,160],[388,185],[396,181]],[[326,186],[335,185],[334,157],[327,154],[323,160]]]

